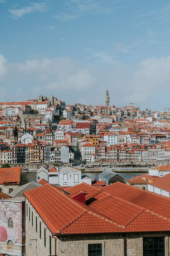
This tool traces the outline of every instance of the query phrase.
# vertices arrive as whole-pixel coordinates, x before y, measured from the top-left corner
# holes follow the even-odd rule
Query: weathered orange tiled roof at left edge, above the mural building
[[[21,167],[0,168],[0,185],[20,184]]]

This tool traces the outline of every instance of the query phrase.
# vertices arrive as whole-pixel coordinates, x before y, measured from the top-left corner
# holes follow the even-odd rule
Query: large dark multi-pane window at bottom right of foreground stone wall
[[[164,256],[164,237],[144,238],[144,256]]]

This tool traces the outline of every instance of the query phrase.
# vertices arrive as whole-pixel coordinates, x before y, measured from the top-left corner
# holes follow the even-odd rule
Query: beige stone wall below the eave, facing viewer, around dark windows
[[[58,256],[88,256],[88,244],[102,244],[102,256],[143,256],[143,237],[165,237],[165,256],[170,256],[170,238],[167,233],[69,236],[58,238]],[[168,241],[169,240],[169,241]]]

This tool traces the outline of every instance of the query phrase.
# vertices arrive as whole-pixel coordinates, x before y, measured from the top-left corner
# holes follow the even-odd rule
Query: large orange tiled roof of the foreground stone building
[[[170,199],[124,183],[98,189],[90,206],[49,183],[24,194],[56,235],[170,230]]]

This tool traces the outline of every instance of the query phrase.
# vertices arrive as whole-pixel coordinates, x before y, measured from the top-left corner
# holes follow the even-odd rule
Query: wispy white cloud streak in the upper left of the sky
[[[23,17],[23,15],[32,13],[32,12],[46,12],[47,6],[46,3],[31,3],[30,6],[25,6],[20,9],[9,9],[10,16],[15,20]]]

